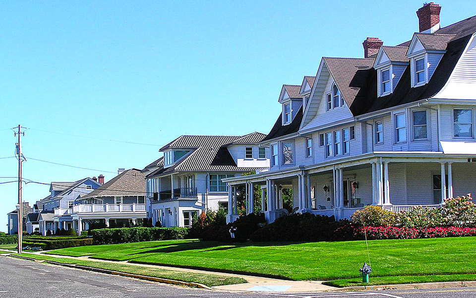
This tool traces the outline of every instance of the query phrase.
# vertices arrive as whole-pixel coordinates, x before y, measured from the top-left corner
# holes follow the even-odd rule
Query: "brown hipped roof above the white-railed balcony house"
[[[141,170],[128,169],[96,188],[80,200],[93,197],[140,196],[145,194],[145,175]]]

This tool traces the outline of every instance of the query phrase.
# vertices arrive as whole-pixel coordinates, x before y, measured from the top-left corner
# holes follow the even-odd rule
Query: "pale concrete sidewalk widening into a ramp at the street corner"
[[[28,253],[41,255],[45,252],[47,252],[47,251],[28,252]],[[273,293],[276,293],[276,292],[305,293],[305,292],[332,291],[332,290],[338,289],[338,288],[335,288],[335,287],[330,287],[330,286],[323,285],[322,281],[289,281],[289,280],[281,280],[281,279],[250,276],[250,275],[233,274],[233,273],[222,273],[222,272],[213,272],[213,271],[178,268],[178,267],[170,267],[170,266],[160,266],[160,265],[136,264],[136,263],[129,263],[128,261],[99,260],[99,259],[92,259],[92,258],[89,258],[87,256],[72,257],[72,256],[63,256],[63,255],[54,255],[54,254],[48,254],[48,256],[57,257],[57,258],[88,260],[88,261],[93,261],[93,262],[127,264],[129,266],[165,269],[165,270],[180,271],[180,272],[201,273],[201,274],[211,274],[211,275],[230,276],[230,277],[240,277],[240,278],[247,281],[247,283],[244,283],[244,284],[216,286],[216,287],[211,288],[213,290],[218,290],[218,291],[227,291],[227,292],[268,292],[268,293],[269,292],[273,292]]]

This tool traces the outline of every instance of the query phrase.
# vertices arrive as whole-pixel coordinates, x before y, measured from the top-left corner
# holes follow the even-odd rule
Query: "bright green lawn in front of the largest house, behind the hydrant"
[[[372,280],[388,276],[476,274],[476,237],[373,240],[368,244]],[[213,241],[168,240],[71,247],[51,253],[291,280],[358,280],[358,268],[368,262],[364,241],[223,245]]]

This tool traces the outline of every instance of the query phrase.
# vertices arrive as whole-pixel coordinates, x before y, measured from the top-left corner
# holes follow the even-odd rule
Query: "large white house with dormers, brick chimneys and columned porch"
[[[440,28],[440,9],[418,9],[409,41],[367,38],[364,58],[324,57],[315,77],[283,85],[282,113],[259,144],[271,149],[269,170],[224,179],[228,221],[238,217],[233,189],[248,183],[266,190],[268,222],[286,213],[282,188],[297,212],[337,219],[475,193],[476,16]]]

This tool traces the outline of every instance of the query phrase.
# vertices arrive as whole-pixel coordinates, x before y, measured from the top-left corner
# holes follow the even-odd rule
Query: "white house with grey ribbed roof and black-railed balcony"
[[[164,157],[143,169],[153,224],[190,226],[207,209],[228,208],[222,179],[269,167],[268,149],[257,146],[265,137],[180,136],[159,149]]]

